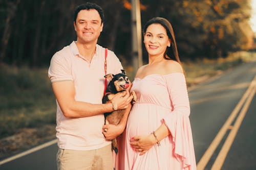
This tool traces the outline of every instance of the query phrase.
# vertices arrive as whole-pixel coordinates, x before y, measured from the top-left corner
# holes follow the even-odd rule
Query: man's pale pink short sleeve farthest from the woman
[[[48,70],[48,77],[51,82],[58,81],[73,81],[71,74],[71,63],[61,56],[58,52],[51,59],[51,64]]]

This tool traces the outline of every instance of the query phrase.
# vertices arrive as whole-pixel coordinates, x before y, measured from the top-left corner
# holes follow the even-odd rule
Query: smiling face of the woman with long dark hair
[[[144,33],[144,44],[148,55],[163,55],[170,40],[165,28],[160,23],[148,26]]]

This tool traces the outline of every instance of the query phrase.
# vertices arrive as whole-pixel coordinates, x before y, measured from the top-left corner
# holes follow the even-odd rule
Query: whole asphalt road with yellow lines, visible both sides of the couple
[[[256,97],[253,92],[256,85],[254,88],[251,84],[255,76],[256,62],[244,63],[189,89],[190,122],[198,165],[200,162],[198,170],[256,169]],[[226,124],[230,115],[234,115],[233,119]],[[223,131],[225,125],[227,130]],[[214,145],[216,147],[212,147]],[[0,169],[57,169],[56,152],[55,143],[4,163]]]

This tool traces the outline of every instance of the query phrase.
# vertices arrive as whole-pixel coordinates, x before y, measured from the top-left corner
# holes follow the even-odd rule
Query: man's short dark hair
[[[81,4],[81,5],[77,6],[75,9],[74,21],[76,22],[78,12],[80,12],[81,10],[90,10],[90,9],[95,9],[98,11],[99,16],[101,18],[101,23],[103,23],[104,22],[103,10],[100,6],[98,6],[97,4],[93,4],[93,3],[86,3],[86,4]]]

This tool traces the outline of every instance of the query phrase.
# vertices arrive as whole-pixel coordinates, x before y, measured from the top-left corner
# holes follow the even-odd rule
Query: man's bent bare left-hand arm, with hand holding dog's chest
[[[52,83],[53,92],[61,111],[66,117],[87,117],[105,112],[113,111],[113,105],[108,104],[91,104],[87,102],[75,101],[75,86],[73,81],[60,81]],[[131,102],[129,93],[118,94],[113,98],[118,109],[127,108]]]

